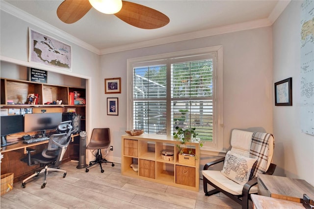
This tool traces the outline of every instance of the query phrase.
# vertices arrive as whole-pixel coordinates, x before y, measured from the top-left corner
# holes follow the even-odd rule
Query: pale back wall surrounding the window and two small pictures
[[[177,52],[209,46],[223,46],[224,148],[230,146],[232,129],[273,132],[272,124],[272,37],[271,27],[262,27],[143,49],[116,52],[101,56],[102,82],[121,77],[121,94],[101,94],[119,98],[119,116],[107,116],[100,125],[112,130],[115,150],[121,152],[121,134],[127,129],[127,63],[128,58]],[[105,108],[104,108],[105,109]],[[121,157],[115,152],[114,157]]]

